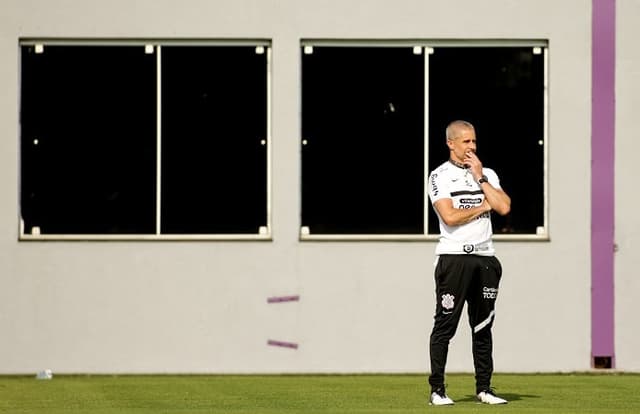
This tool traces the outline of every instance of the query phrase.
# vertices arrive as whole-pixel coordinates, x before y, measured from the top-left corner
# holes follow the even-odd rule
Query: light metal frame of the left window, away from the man
[[[22,217],[22,202],[19,201],[18,208],[18,240],[19,241],[198,241],[198,240],[246,240],[246,241],[271,241],[272,240],[272,41],[270,39],[59,39],[59,38],[21,38],[18,41],[18,53],[21,55],[22,48],[25,46],[33,46],[36,48],[44,48],[48,46],[139,46],[144,48],[143,53],[153,53],[156,57],[156,228],[155,233],[144,234],[41,234],[36,228],[32,232],[26,232],[25,222]],[[255,47],[257,54],[266,55],[266,130],[264,137],[264,145],[266,147],[266,171],[265,171],[265,190],[266,190],[266,223],[260,226],[256,233],[215,233],[215,234],[170,234],[161,233],[161,169],[162,169],[162,47],[163,46],[231,46],[231,47]],[[19,69],[18,79],[19,85],[22,83],[22,67]],[[18,109],[22,107],[22,88],[19,89]],[[19,119],[21,119],[19,117]],[[22,122],[22,121],[20,121]],[[19,173],[18,173],[18,191],[22,191],[22,125],[19,124],[18,133],[19,142]]]

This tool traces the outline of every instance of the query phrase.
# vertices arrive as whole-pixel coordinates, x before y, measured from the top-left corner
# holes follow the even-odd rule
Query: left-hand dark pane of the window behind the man
[[[302,225],[424,232],[424,56],[410,47],[302,55]]]

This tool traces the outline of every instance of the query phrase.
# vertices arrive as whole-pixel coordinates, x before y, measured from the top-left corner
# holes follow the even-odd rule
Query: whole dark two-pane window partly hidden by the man
[[[438,234],[426,175],[456,119],[512,198],[494,233],[545,235],[545,49],[304,45],[303,236]]]

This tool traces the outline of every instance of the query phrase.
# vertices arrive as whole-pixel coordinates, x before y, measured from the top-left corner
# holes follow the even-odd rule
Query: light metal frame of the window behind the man
[[[436,166],[429,165],[429,56],[438,47],[531,47],[539,49],[543,54],[543,225],[536,229],[536,233],[528,234],[496,234],[494,232],[494,240],[505,241],[549,241],[549,171],[548,171],[548,159],[549,159],[549,41],[547,39],[467,39],[467,40],[454,40],[454,39],[431,39],[431,40],[419,40],[419,39],[407,39],[407,40],[368,40],[368,39],[356,39],[356,40],[342,40],[342,39],[302,39],[300,41],[301,53],[312,53],[314,47],[413,47],[414,53],[420,53],[424,56],[424,179],[423,179],[423,192],[424,198],[424,221],[423,221],[423,234],[313,234],[309,227],[302,223],[302,214],[299,215],[299,240],[300,241],[434,241],[438,240],[439,234],[429,234],[429,209],[432,208],[431,202],[426,195],[426,182],[429,176],[430,170]],[[302,63],[302,56],[299,59]],[[302,72],[302,69],[301,69]],[[302,93],[301,93],[302,96]],[[302,99],[302,98],[301,98]],[[301,111],[301,119],[302,119]],[[302,136],[299,141],[300,154],[302,154],[302,147],[304,145],[305,137]],[[302,158],[300,158],[302,163]],[[300,180],[300,194],[302,193],[302,180]]]

